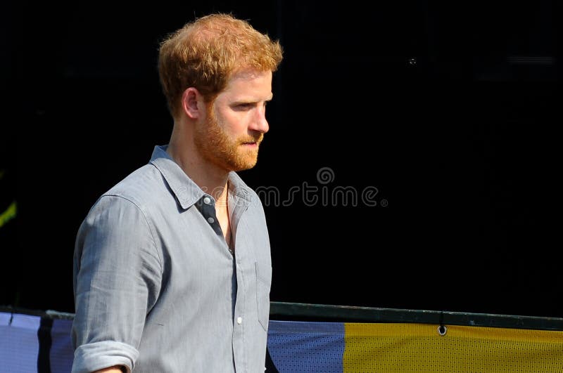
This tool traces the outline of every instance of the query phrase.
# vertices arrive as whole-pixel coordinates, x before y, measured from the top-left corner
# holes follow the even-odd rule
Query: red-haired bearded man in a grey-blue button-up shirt
[[[77,234],[72,372],[263,372],[271,261],[257,162],[279,42],[213,14],[160,46],[174,127]]]

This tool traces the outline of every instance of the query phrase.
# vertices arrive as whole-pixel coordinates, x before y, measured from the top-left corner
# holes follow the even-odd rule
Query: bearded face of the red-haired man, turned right
[[[255,166],[269,129],[265,114],[271,99],[272,72],[234,74],[196,127],[195,145],[203,158],[227,171]]]

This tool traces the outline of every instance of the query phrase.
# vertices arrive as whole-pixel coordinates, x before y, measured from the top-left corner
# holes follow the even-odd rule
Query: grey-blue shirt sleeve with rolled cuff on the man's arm
[[[123,197],[101,197],[78,230],[74,256],[72,372],[112,365],[131,371],[162,267],[145,214]]]

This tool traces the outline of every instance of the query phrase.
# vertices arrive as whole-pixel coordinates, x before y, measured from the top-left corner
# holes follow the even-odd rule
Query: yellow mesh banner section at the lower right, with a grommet
[[[345,323],[343,371],[563,372],[563,332]]]

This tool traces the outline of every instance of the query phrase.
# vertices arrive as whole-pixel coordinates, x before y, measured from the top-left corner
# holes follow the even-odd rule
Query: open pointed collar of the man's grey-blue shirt
[[[182,209],[188,209],[207,194],[168,155],[167,148],[168,145],[156,145],[150,163],[163,175]],[[229,191],[246,202],[251,200],[250,188],[234,171],[229,172]]]

